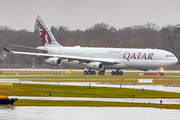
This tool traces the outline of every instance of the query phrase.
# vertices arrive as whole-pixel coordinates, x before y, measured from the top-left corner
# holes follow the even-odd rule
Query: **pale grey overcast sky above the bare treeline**
[[[180,0],[0,0],[0,25],[34,31],[37,15],[49,27],[85,30],[96,23],[117,29],[153,22],[180,23]]]

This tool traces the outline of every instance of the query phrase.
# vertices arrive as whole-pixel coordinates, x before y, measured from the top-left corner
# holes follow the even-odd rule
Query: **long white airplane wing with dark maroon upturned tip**
[[[112,59],[103,59],[103,58],[90,58],[90,57],[81,57],[81,56],[71,56],[71,55],[56,55],[56,54],[45,54],[45,53],[31,53],[31,52],[18,52],[10,51],[7,48],[3,47],[7,52],[14,54],[24,54],[24,55],[35,55],[38,57],[58,57],[61,59],[72,59],[72,60],[83,60],[83,61],[92,61],[92,62],[106,62],[106,63],[115,63]]]

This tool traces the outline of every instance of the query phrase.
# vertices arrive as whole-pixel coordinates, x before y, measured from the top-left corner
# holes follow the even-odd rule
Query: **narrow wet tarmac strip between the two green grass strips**
[[[82,98],[82,97],[30,97],[30,96],[9,96],[9,98],[27,100],[57,100],[57,101],[103,101],[103,102],[131,102],[131,103],[154,103],[180,104],[180,99],[153,99],[153,98]]]

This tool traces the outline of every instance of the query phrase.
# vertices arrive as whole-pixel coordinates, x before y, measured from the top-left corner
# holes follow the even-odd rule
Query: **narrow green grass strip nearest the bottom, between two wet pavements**
[[[179,104],[150,104],[99,101],[50,101],[50,100],[17,100],[13,106],[88,106],[88,107],[153,107],[180,109]]]

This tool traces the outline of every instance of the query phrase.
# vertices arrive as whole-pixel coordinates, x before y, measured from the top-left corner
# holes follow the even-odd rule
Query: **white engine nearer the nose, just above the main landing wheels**
[[[90,62],[86,66],[88,69],[93,69],[93,70],[103,70],[104,69],[104,64],[101,62]]]

